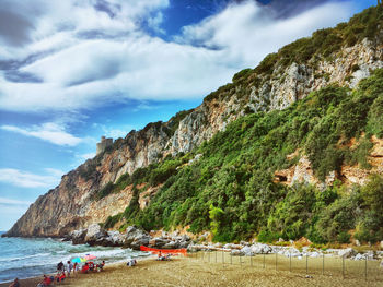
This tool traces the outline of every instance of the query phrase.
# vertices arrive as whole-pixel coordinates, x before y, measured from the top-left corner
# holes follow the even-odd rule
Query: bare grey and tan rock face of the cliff
[[[383,68],[382,34],[380,31],[373,40],[365,38],[320,60],[314,57],[305,63],[293,62],[288,67],[277,62],[267,72],[252,71],[241,81],[234,81],[209,95],[183,118],[150,123],[141,131],[131,131],[125,139],[116,140],[104,153],[65,175],[57,188],[31,205],[8,236],[63,236],[90,224],[104,222],[129,204],[131,187],[100,201],[92,200],[92,195],[108,182],[115,183],[121,175],[132,174],[137,168],[169,154],[190,152],[245,113],[283,109],[310,92],[332,83],[356,86],[372,70]],[[381,160],[379,158],[376,160]],[[290,171],[291,175],[283,171],[286,177],[315,181],[310,176],[310,163],[303,163],[304,157],[301,160],[295,170]],[[382,166],[382,163],[379,165]],[[300,168],[302,166],[306,168]],[[343,172],[352,181],[353,167],[345,167]],[[361,177],[365,178],[364,175]],[[155,191],[151,190],[146,199],[140,199],[141,208]]]

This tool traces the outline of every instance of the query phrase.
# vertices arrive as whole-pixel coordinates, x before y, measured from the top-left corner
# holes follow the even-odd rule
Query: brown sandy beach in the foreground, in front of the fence
[[[282,267],[282,265],[281,265]],[[36,286],[39,278],[21,280],[22,287]],[[272,265],[230,264],[206,262],[196,258],[176,258],[172,261],[139,260],[128,267],[116,263],[100,273],[76,274],[56,286],[382,286],[382,277],[343,276],[338,273],[312,274],[276,271]],[[0,284],[0,287],[9,284]]]

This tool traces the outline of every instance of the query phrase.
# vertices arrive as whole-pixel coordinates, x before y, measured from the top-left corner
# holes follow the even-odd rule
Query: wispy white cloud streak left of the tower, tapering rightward
[[[43,123],[42,125],[34,125],[28,129],[14,125],[2,125],[0,129],[9,132],[20,133],[26,136],[37,137],[57,145],[74,146],[82,142],[80,137],[66,132],[62,125],[59,125],[55,122],[47,122]]]

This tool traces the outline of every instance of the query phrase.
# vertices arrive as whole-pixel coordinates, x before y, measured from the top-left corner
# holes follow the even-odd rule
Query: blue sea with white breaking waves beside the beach
[[[0,236],[3,232],[0,231]],[[149,253],[112,247],[73,246],[51,238],[1,238],[0,237],[0,283],[43,276],[55,273],[60,261],[95,255],[94,262],[105,260],[106,264],[126,262],[129,258],[143,258]]]

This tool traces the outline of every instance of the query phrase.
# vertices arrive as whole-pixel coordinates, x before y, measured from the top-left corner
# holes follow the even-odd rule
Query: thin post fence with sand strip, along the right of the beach
[[[378,260],[352,260],[334,255],[321,254],[318,258],[288,258],[278,253],[257,254],[254,256],[232,255],[227,251],[198,251],[189,253],[205,263],[222,265],[241,265],[254,268],[287,271],[305,275],[328,275],[343,278],[356,278],[382,282],[383,268]]]

